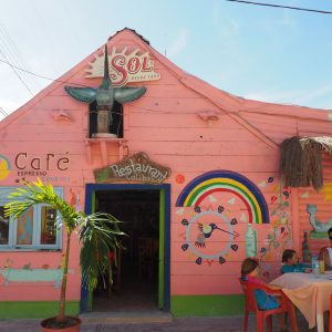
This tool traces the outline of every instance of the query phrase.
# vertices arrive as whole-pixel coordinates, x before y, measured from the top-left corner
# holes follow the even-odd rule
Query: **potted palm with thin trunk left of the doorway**
[[[25,179],[21,183],[23,187],[9,195],[14,200],[6,205],[6,216],[18,218],[35,204],[48,204],[60,212],[58,227],[63,226],[66,232],[59,312],[56,317],[41,322],[42,331],[80,331],[81,320],[65,315],[66,277],[72,235],[75,230],[82,243],[80,255],[82,282],[93,290],[97,284],[98,276],[110,269],[108,252],[118,248],[117,238],[124,235],[118,228],[120,221],[108,214],[85,215],[82,211],[75,211],[63,198],[54,194],[52,185],[44,185],[40,179],[32,184]],[[112,273],[110,278],[112,282]]]

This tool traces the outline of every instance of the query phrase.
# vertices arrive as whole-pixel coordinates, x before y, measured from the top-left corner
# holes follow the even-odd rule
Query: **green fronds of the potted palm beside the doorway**
[[[86,216],[75,211],[63,198],[54,194],[51,185],[44,185],[40,179],[30,184],[23,181],[24,187],[10,194],[15,199],[6,205],[6,216],[18,218],[35,204],[49,204],[55,208],[61,218],[56,224],[65,227],[70,238],[77,229],[79,240],[82,243],[80,262],[82,279],[90,289],[96,287],[100,274],[110,270],[110,251],[116,251],[120,246],[118,237],[124,232],[120,230],[120,221],[108,214],[93,214]],[[108,273],[112,278],[112,273]]]

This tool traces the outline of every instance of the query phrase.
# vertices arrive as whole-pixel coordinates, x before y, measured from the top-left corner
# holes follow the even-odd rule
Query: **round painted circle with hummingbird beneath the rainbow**
[[[228,258],[229,250],[238,250],[236,239],[239,234],[235,229],[238,221],[236,218],[228,218],[222,214],[224,210],[222,206],[218,206],[217,211],[201,210],[196,206],[195,215],[189,220],[181,220],[181,225],[186,227],[183,234],[186,241],[181,245],[181,250],[189,249],[199,266],[203,260],[209,266],[214,261],[222,264]]]

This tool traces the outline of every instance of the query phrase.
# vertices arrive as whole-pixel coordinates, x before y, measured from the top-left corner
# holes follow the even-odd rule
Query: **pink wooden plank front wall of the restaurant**
[[[241,203],[232,200],[235,197],[218,194],[216,197],[209,196],[203,204],[204,210],[215,210],[222,205],[229,217],[236,217],[238,220],[238,250],[228,255],[226,263],[204,259],[201,264],[197,264],[197,255],[181,249],[186,240],[186,229],[181,220],[185,217],[190,219],[195,211],[190,207],[181,210],[175,203],[191,179],[215,169],[228,169],[247,177],[264,196],[270,212],[273,211],[273,215],[270,215],[271,222],[255,224],[253,228],[258,234],[258,256],[262,258],[263,272],[267,278],[276,276],[280,269],[282,250],[294,246],[293,222],[301,232],[308,228],[303,207],[294,219],[291,207],[292,190],[279,184],[278,144],[295,134],[312,134],[313,128],[317,134],[331,134],[326,113],[307,108],[300,110],[299,113],[294,106],[245,101],[227,94],[186,74],[128,30],[116,34],[108,42],[108,50],[115,45],[118,50],[124,46],[148,50],[155,62],[155,72],[162,76],[159,81],[137,83],[136,85],[147,87],[146,94],[141,100],[125,105],[124,137],[127,139],[127,148],[124,152],[127,155],[145,152],[154,162],[172,168],[172,177],[166,181],[172,185],[172,294],[240,292],[237,278],[246,256],[245,235],[248,216]],[[98,86],[100,79],[84,77],[86,65],[93,60],[93,54],[87,56],[59,81],[68,82],[69,85]],[[63,85],[61,82],[52,83],[27,105],[2,121],[1,155],[8,157],[11,165],[14,165],[14,157],[21,152],[27,152],[29,158],[41,157],[43,160],[50,153],[56,158],[68,156],[69,169],[61,172],[56,169],[55,164],[51,164],[45,179],[54,186],[64,187],[69,201],[70,189],[80,194],[83,207],[84,186],[86,183],[94,183],[93,169],[106,165],[103,164],[98,144],[91,145],[92,159],[91,163],[87,162],[87,105],[68,96]],[[68,121],[56,117],[60,111],[65,112]],[[197,112],[201,111],[215,112],[219,120],[208,126],[207,122],[197,115]],[[114,143],[106,146],[107,164],[117,162],[118,146]],[[45,168],[45,162],[42,168]],[[184,183],[176,180],[178,175],[184,176]],[[19,177],[13,167],[8,178],[1,180],[1,185],[15,186],[15,179]],[[31,176],[27,177],[33,179]],[[289,193],[289,197],[286,197],[284,191]],[[298,195],[301,195],[301,191],[302,189]],[[321,199],[319,196],[315,201],[321,204]],[[280,211],[278,204],[284,201],[290,206]],[[210,248],[207,250],[218,250],[218,242],[209,243]],[[299,246],[299,240],[294,243],[295,247]],[[73,273],[69,277],[69,299],[79,300],[80,248],[75,241],[72,246],[70,268]],[[266,248],[266,251],[260,252],[261,248]],[[55,268],[60,258],[60,252],[0,252],[0,266],[3,267],[7,259],[10,259],[12,267],[17,268],[27,262],[31,262],[34,268],[44,263]],[[59,297],[59,289],[46,282],[17,283],[8,287],[1,284],[0,288],[3,300],[58,300]],[[37,289],[43,292],[35,291]]]

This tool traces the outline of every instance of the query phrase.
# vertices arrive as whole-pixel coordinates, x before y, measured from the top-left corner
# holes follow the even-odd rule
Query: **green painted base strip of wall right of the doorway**
[[[237,315],[245,310],[245,297],[231,295],[173,295],[170,312],[174,317]]]

